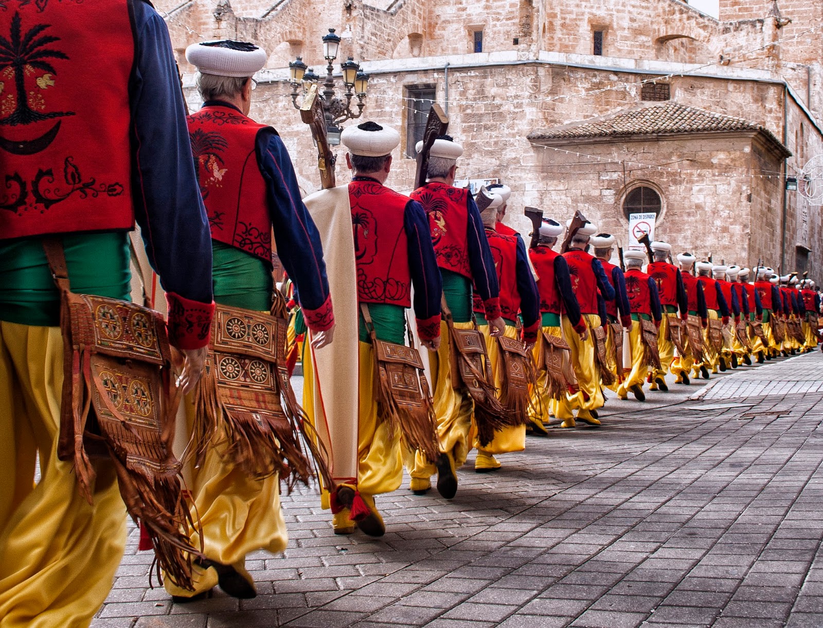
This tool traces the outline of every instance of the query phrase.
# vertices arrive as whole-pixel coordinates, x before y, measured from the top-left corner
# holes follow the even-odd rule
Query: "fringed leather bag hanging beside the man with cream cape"
[[[378,340],[369,307],[360,304],[374,348],[374,393],[379,421],[388,422],[390,435],[400,430],[409,449],[418,450],[430,463],[439,458],[437,419],[425,379],[420,351],[414,347]]]

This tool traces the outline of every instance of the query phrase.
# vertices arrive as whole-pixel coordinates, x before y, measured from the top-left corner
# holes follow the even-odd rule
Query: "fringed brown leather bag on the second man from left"
[[[277,473],[289,492],[314,475],[333,486],[327,454],[291,388],[286,314],[278,291],[269,313],[216,307],[206,370],[195,393],[193,457],[199,465],[207,449],[219,447],[250,477]]]

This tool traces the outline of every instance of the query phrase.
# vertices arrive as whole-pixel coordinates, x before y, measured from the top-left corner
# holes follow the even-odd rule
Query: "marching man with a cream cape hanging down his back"
[[[375,388],[382,380],[370,328],[378,341],[405,345],[405,313],[413,305],[421,342],[437,351],[443,286],[423,207],[385,185],[400,134],[365,122],[347,127],[341,141],[351,183],[305,198],[323,241],[337,321],[335,342],[313,348],[305,385],[311,386],[309,412],[337,484],[325,487],[332,490],[323,496],[334,532],[349,534],[357,527],[379,537],[386,528],[374,495],[395,491],[402,482],[402,430],[393,429],[396,414],[379,412],[385,391],[382,384]]]

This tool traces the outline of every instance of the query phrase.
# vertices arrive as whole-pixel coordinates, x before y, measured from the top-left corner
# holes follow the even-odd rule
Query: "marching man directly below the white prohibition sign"
[[[629,347],[631,349],[631,370],[617,388],[617,396],[627,399],[629,392],[635,395],[638,401],[645,401],[643,383],[649,375],[649,367],[660,365],[658,342],[655,337],[650,342],[648,334],[644,333],[644,321],[654,320],[655,327],[660,328],[661,309],[658,286],[652,277],[643,272],[643,263],[646,254],[643,251],[628,250],[625,258],[625,289],[629,295],[631,305],[631,330],[629,332]],[[654,356],[657,356],[655,359]]]

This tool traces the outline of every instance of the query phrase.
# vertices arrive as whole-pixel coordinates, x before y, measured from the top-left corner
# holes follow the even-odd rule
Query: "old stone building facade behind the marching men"
[[[458,176],[509,184],[506,220],[523,234],[528,205],[557,219],[581,209],[626,240],[627,202],[656,196],[657,235],[677,249],[823,271],[821,207],[785,190],[823,153],[820,0],[720,0],[719,20],[681,0],[368,1],[156,4],[187,86],[194,41],[267,50],[252,115],[281,133],[306,193],[319,187],[316,152],[287,64],[300,55],[324,74],[332,27],[336,63],[351,55],[370,74],[365,117],[401,130],[398,190],[412,188],[410,125],[432,99],[466,147]]]

